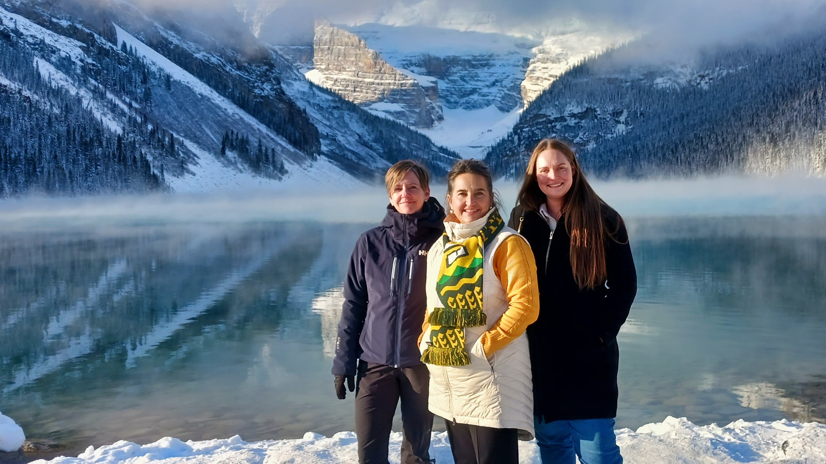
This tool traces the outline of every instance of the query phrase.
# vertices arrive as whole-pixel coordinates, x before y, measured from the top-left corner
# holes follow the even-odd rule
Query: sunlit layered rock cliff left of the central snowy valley
[[[420,128],[442,121],[435,79],[393,68],[364,40],[330,23],[316,24],[313,65],[317,83],[361,107]]]

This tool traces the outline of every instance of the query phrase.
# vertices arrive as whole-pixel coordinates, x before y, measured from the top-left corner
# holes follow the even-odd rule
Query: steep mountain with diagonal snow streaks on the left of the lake
[[[0,2],[0,195],[353,186],[397,159],[453,163],[307,82],[240,15],[153,14]]]

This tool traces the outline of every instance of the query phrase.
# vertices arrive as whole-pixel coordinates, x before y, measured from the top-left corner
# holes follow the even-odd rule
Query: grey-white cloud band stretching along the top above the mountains
[[[822,0],[136,0],[221,15],[242,12],[256,36],[310,45],[314,18],[358,24],[530,33],[566,26],[634,31],[665,50],[775,40],[824,16]],[[572,23],[572,20],[575,22]]]

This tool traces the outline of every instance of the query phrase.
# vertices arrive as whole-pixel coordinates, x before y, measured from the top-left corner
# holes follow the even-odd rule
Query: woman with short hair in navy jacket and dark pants
[[[344,281],[335,342],[335,392],[356,390],[360,464],[387,464],[401,400],[401,463],[429,464],[433,414],[428,370],[416,346],[425,317],[427,250],[442,235],[444,209],[430,197],[420,163],[400,161],[385,176],[390,204],[382,224],[358,238]]]

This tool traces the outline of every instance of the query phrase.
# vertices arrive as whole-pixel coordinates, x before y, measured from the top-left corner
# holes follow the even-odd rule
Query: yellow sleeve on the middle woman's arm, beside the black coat
[[[525,329],[539,318],[536,263],[525,239],[518,235],[506,238],[493,255],[493,269],[505,288],[508,309],[490,330],[482,334],[486,356],[525,334]]]

